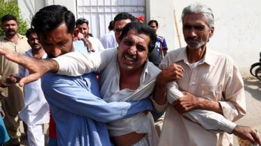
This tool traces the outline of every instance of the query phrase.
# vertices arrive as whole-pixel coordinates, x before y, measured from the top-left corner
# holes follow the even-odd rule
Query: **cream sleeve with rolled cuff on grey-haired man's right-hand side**
[[[223,88],[223,101],[220,101],[223,115],[228,120],[238,120],[246,114],[244,82],[239,70],[232,63],[227,63],[228,74]],[[231,65],[230,65],[231,64]]]

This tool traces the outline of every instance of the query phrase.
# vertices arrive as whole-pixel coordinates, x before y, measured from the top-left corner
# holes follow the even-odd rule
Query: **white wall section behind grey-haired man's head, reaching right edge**
[[[182,35],[181,13],[193,0],[174,0],[179,20],[180,39]],[[215,17],[215,32],[208,48],[228,54],[244,76],[250,76],[251,64],[258,62],[261,51],[261,1],[260,0],[200,0],[212,8]],[[177,40],[177,37],[175,38]],[[177,43],[175,45],[177,46]]]

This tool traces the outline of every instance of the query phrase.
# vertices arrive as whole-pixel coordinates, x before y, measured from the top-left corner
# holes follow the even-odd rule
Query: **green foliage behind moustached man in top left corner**
[[[17,3],[14,1],[6,1],[0,0],[0,18],[2,18],[4,15],[14,15],[17,18],[18,23],[18,33],[24,35],[26,33],[27,28],[27,22],[25,19],[21,16],[21,11],[18,8]],[[0,20],[1,24],[1,20]],[[2,26],[2,24],[1,24]],[[0,29],[0,35],[3,35],[3,29]]]

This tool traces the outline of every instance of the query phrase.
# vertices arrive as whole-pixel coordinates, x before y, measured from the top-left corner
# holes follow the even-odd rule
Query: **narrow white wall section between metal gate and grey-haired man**
[[[173,0],[147,0],[146,1],[146,22],[156,19],[159,22],[158,35],[166,38],[168,49],[174,49],[175,23]]]

